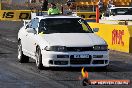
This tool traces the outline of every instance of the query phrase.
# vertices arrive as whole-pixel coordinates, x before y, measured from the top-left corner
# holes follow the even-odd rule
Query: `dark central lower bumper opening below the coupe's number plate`
[[[74,58],[73,55],[70,56],[70,64],[77,65],[77,64],[90,64],[91,63],[91,56],[89,58]]]

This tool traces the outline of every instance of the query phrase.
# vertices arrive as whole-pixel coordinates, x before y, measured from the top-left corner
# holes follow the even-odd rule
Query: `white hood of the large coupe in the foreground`
[[[94,33],[53,33],[45,34],[43,38],[50,46],[67,47],[106,45],[106,42]]]

